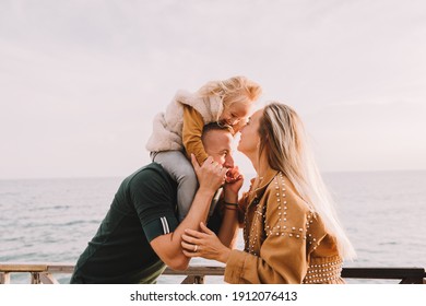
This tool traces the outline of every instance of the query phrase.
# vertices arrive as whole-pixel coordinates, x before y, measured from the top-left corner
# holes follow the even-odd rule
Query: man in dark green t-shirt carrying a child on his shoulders
[[[210,156],[201,166],[192,156],[200,187],[180,224],[176,217],[177,185],[161,165],[152,163],[127,177],[95,237],[80,256],[71,283],[155,283],[166,266],[187,269],[190,258],[182,252],[181,235],[206,222],[212,199],[225,179],[230,187],[224,188],[224,200],[236,202],[236,188],[232,186],[240,186],[241,179],[233,169],[232,141],[228,129],[215,123],[204,127],[202,142]],[[228,169],[238,178],[229,179]],[[226,214],[224,220],[235,217],[230,212]],[[230,227],[221,228],[218,234],[228,246],[236,237],[236,227]]]

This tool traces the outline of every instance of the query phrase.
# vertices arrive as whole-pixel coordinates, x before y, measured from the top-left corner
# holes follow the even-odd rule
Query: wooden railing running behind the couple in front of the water
[[[0,284],[11,283],[11,273],[29,273],[32,284],[58,284],[54,274],[74,270],[69,263],[0,263]],[[205,276],[223,275],[224,267],[191,266],[186,271],[166,269],[164,275],[186,275],[182,284],[203,284]],[[343,268],[344,279],[400,280],[400,284],[425,284],[424,268]]]

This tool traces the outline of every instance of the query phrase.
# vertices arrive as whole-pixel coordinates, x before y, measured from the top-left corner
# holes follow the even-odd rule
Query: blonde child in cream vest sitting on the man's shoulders
[[[179,221],[187,215],[198,188],[187,156],[194,154],[199,164],[209,157],[201,142],[204,125],[218,122],[237,132],[260,93],[261,87],[245,76],[212,81],[196,93],[177,92],[166,111],[154,118],[146,149],[153,162],[161,164],[178,184]]]

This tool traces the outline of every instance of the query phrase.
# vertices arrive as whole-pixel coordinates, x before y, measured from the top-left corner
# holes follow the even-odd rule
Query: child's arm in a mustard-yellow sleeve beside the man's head
[[[191,153],[196,155],[199,164],[202,164],[208,157],[204,145],[201,142],[201,136],[203,132],[204,120],[200,113],[190,106],[184,107],[184,129],[182,129],[182,142],[190,158]]]

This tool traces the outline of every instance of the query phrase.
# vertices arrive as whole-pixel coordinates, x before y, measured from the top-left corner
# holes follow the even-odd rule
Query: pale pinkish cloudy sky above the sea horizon
[[[423,0],[1,0],[0,179],[127,176],[176,91],[234,75],[322,172],[426,169],[425,37]]]

